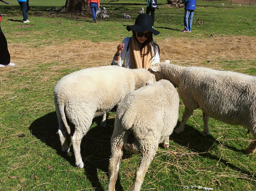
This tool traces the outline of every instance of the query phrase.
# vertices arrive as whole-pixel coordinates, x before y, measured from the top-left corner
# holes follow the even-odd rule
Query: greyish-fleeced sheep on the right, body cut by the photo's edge
[[[170,80],[178,87],[185,105],[182,122],[176,133],[184,130],[193,110],[203,112],[203,131],[209,133],[209,117],[248,128],[256,139],[256,76],[231,71],[219,71],[203,67],[184,67],[167,62],[151,66],[156,80]],[[246,154],[256,151],[256,141],[244,149]]]

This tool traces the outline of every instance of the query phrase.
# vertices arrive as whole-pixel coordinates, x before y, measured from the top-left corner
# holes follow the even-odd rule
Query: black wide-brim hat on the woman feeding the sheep
[[[145,31],[150,31],[154,35],[158,35],[160,32],[153,29],[153,21],[152,18],[149,14],[142,13],[139,14],[135,20],[134,25],[129,25],[126,27],[127,31],[135,31],[137,33],[145,32]]]

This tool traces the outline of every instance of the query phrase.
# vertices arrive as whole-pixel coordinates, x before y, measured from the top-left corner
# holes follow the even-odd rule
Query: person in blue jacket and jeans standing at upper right
[[[183,33],[191,32],[193,15],[195,10],[196,0],[183,0],[184,8],[185,8],[185,15],[184,15],[184,30]]]

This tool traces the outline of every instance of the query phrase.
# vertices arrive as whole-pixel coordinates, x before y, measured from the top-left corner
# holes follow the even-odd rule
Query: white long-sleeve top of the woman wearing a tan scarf
[[[130,53],[129,53],[129,49],[127,51],[127,46],[129,44],[131,37],[126,37],[125,39],[123,39],[123,42],[125,44],[125,47],[123,48],[123,51],[121,52],[121,59],[119,61],[115,61],[115,57],[112,60],[112,64],[113,65],[117,65],[117,66],[122,66],[125,68],[131,68],[131,63],[130,63]],[[154,55],[154,49],[152,47],[152,54]],[[156,55],[152,58],[152,64],[155,64],[157,62],[160,62],[160,57],[159,57],[159,53],[158,51],[156,51]]]

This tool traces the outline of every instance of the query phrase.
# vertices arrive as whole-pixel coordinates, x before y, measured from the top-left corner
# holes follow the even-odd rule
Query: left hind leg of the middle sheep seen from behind
[[[117,180],[118,170],[123,156],[123,135],[124,132],[119,132],[111,138],[111,158],[109,159],[109,182],[108,191],[115,191],[115,182]]]

